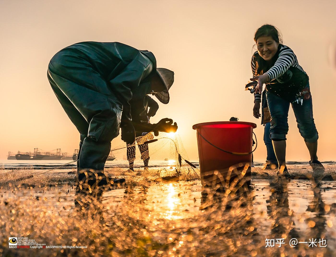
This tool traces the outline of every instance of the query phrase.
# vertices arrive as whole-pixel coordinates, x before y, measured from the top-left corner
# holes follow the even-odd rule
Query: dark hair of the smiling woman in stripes
[[[279,45],[282,44],[282,36],[279,30],[270,24],[264,24],[262,25],[257,31],[254,33],[254,41],[257,43],[258,38],[260,37],[271,37],[275,42],[277,42]],[[280,47],[278,51],[280,50]],[[271,59],[271,61],[267,62],[262,57],[257,55],[255,58],[256,60],[256,74],[254,75],[262,75],[265,73],[269,68],[271,68],[274,63],[276,62],[278,58],[278,53],[274,55],[274,57]]]

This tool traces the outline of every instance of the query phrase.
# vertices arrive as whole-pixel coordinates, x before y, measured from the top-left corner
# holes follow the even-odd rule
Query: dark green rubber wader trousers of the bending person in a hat
[[[81,134],[78,169],[103,170],[111,141],[119,134],[122,104],[102,75],[77,51],[59,51],[49,63],[47,76]]]

